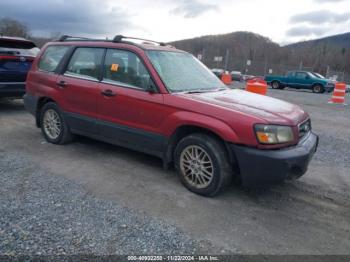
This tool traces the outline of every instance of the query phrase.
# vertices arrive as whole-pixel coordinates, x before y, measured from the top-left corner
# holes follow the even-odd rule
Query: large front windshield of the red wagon
[[[200,92],[226,86],[199,60],[188,53],[146,52],[170,92]]]

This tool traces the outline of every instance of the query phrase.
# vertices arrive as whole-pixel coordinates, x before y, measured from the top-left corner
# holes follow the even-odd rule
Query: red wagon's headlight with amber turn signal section
[[[283,144],[294,140],[289,126],[255,125],[255,134],[261,144]]]

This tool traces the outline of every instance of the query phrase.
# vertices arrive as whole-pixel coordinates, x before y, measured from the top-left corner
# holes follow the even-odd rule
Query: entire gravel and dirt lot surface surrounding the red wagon
[[[350,106],[268,95],[310,114],[320,144],[308,172],[215,198],[188,192],[145,154],[85,138],[46,143],[21,101],[0,102],[0,254],[350,255]]]

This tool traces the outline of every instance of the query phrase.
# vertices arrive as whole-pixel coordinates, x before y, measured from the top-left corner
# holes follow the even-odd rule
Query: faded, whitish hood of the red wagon
[[[297,105],[238,89],[179,95],[234,112],[253,115],[271,124],[297,125],[308,117]]]

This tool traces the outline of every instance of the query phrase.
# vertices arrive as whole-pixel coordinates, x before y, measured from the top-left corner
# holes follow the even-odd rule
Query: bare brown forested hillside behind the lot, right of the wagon
[[[203,36],[171,44],[196,56],[202,55],[202,61],[209,67],[227,64],[228,70],[255,74],[265,74],[269,69],[283,73],[295,67],[323,74],[335,71],[350,74],[350,33],[284,47],[250,32]],[[215,62],[215,56],[222,56],[223,61]],[[250,66],[246,65],[247,60],[251,60]]]

